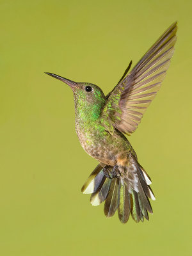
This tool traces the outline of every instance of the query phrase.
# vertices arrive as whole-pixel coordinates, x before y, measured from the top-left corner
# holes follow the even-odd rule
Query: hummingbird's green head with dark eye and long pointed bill
[[[67,78],[52,73],[45,73],[55,77],[62,82],[68,84],[74,93],[76,111],[84,113],[92,113],[93,116],[99,116],[100,111],[106,102],[106,97],[99,86],[91,83],[77,83]]]

